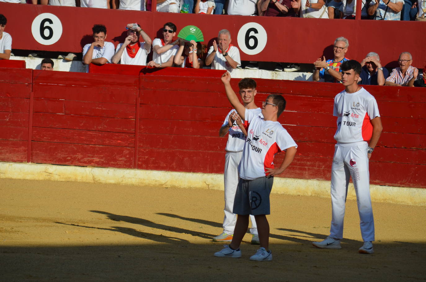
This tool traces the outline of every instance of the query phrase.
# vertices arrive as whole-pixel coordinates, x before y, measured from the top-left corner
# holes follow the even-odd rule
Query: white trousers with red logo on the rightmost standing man
[[[332,217],[330,236],[343,238],[343,219],[348,195],[349,177],[352,177],[357,195],[360,229],[363,241],[374,241],[374,218],[370,198],[370,174],[368,172],[368,144],[365,141],[336,144],[331,166]]]

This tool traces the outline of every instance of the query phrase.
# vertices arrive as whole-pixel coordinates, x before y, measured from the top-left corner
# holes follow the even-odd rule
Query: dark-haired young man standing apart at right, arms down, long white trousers
[[[322,242],[312,242],[319,248],[340,249],[343,238],[343,218],[352,177],[357,194],[360,229],[364,245],[360,253],[373,253],[374,219],[370,198],[368,160],[382,132],[376,99],[358,86],[361,64],[356,60],[342,63],[342,83],[345,90],[334,98],[333,115],[337,116],[337,131],[333,164],[331,165],[331,227],[330,235]]]

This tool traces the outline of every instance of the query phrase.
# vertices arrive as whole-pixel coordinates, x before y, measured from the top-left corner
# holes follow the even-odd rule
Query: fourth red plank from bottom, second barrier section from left
[[[97,103],[42,98],[34,99],[34,112],[134,119],[135,111],[135,105],[132,104]]]

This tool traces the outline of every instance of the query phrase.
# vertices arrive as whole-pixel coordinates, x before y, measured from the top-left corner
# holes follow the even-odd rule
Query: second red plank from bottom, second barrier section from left
[[[132,133],[33,127],[32,141],[134,147],[135,135]]]

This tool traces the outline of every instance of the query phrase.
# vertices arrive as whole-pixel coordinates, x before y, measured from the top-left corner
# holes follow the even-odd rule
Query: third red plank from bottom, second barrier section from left
[[[35,112],[34,127],[95,130],[134,133],[135,120],[124,118],[99,118],[83,115],[59,115]],[[1,125],[1,124],[0,124]]]

